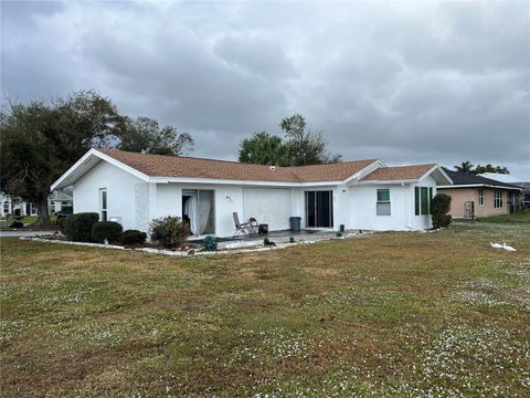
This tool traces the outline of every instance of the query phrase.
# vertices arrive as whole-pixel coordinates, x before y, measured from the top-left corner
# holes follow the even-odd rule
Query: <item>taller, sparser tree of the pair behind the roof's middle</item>
[[[303,115],[285,117],[279,126],[287,138],[290,166],[341,161],[339,154],[330,156],[327,153],[328,143],[321,132],[306,130],[306,119]]]

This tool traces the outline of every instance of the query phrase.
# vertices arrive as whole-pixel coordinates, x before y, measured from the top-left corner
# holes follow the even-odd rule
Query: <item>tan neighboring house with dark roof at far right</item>
[[[438,190],[452,197],[449,213],[453,218],[508,214],[518,208],[520,187],[467,172],[446,174],[453,185],[441,186]]]

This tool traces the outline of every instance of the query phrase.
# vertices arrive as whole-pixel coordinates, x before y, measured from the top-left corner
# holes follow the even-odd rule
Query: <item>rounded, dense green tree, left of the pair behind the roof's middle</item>
[[[241,163],[255,165],[289,166],[289,156],[282,137],[265,132],[254,133],[240,144]]]

